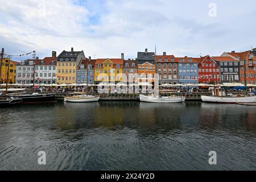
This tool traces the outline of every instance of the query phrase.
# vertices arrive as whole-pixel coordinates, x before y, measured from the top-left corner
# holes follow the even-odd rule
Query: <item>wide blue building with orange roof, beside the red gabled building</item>
[[[198,84],[198,60],[192,57],[175,57],[175,60],[179,84]]]

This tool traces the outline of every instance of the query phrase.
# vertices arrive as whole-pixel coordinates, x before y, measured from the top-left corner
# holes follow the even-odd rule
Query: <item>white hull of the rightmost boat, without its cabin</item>
[[[214,102],[222,104],[237,104],[256,102],[256,96],[251,97],[216,97],[216,96],[201,96],[203,102]]]

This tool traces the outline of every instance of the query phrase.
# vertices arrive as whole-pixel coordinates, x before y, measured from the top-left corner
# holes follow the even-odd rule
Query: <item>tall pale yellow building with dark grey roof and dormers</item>
[[[74,51],[71,48],[70,52],[61,52],[57,59],[57,84],[75,84],[76,68],[83,59],[84,51]]]

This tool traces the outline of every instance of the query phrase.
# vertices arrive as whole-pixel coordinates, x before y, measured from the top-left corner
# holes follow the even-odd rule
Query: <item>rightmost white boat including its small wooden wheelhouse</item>
[[[227,96],[224,89],[214,89],[213,96],[201,96],[201,100],[223,104],[253,103],[256,102],[256,96]]]

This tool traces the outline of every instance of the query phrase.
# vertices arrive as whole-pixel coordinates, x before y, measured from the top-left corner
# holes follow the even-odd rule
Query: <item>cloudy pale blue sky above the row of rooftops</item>
[[[223,0],[0,0],[7,54],[63,49],[86,57],[135,58],[138,51],[220,55],[256,47],[256,2]],[[18,58],[17,58],[18,59]]]

